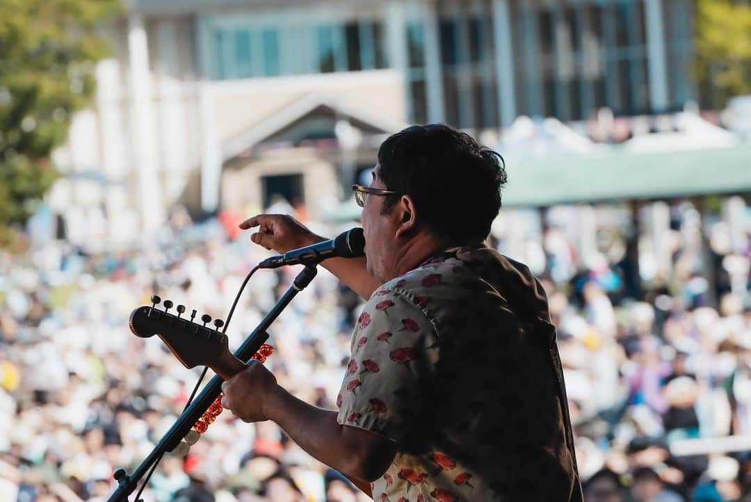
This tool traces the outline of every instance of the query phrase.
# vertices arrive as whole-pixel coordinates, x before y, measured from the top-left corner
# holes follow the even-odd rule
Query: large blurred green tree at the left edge
[[[118,0],[0,0],[0,241],[56,179],[50,154],[89,106]]]

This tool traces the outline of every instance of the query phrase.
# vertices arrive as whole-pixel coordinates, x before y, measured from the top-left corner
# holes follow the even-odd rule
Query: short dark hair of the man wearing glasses
[[[415,125],[389,137],[378,154],[386,188],[415,201],[420,224],[451,245],[487,239],[501,209],[505,163],[448,125]],[[382,214],[398,196],[385,197]]]

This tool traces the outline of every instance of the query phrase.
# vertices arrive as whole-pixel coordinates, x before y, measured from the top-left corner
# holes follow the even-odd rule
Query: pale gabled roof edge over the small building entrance
[[[378,116],[368,110],[362,110],[330,95],[313,93],[277,110],[247,131],[237,135],[222,145],[222,162],[252,149],[274,134],[285,130],[306,116],[320,110],[328,110],[334,116],[347,119],[358,128],[378,131],[379,134],[393,134],[408,127],[409,124],[399,120]]]

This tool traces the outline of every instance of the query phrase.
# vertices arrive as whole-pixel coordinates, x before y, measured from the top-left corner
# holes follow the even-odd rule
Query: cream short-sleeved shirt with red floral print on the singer
[[[398,445],[374,500],[581,500],[565,398],[529,269],[451,248],[366,303],[337,421]]]

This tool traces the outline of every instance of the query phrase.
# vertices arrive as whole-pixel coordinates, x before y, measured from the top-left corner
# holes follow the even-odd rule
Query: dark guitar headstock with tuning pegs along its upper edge
[[[159,301],[158,296],[152,297],[155,304]],[[158,310],[155,305],[136,308],[129,322],[131,332],[141,338],[157,335],[185,368],[210,366],[225,380],[237,372],[237,364],[242,365],[242,362],[230,352],[227,335],[219,332],[224,324],[222,320],[206,326],[211,317],[204,314],[201,316],[204,325],[201,325],[193,322],[195,311],[188,319],[182,317],[185,312],[182,305],[177,306],[177,315],[168,312],[172,302],[165,300],[163,305],[164,310]]]

